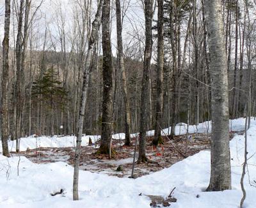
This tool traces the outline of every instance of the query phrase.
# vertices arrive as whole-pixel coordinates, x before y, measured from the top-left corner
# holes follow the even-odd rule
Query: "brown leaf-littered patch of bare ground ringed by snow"
[[[230,139],[235,134],[243,134],[243,131],[230,132]],[[134,177],[141,177],[150,173],[157,172],[163,168],[169,168],[172,164],[182,159],[193,156],[201,150],[209,150],[211,148],[211,134],[195,133],[189,136],[175,136],[173,140],[170,137],[163,136],[163,145],[154,148],[151,143],[153,136],[147,137],[147,156],[153,163],[135,164]],[[105,155],[95,154],[96,148],[93,146],[85,146],[81,148],[80,169],[88,170],[93,173],[106,173],[116,177],[129,177],[132,170],[132,161],[134,155],[134,145],[136,138],[132,138],[132,145],[125,147],[124,140],[113,140],[113,148],[115,154],[112,159],[108,159]],[[97,142],[99,143],[99,141]],[[137,148],[138,149],[138,148]],[[55,163],[65,162],[74,165],[74,147],[50,148],[40,147],[36,149],[28,149],[20,152],[20,156],[27,157],[33,163]],[[17,156],[12,152],[14,156]],[[136,160],[138,153],[136,154]],[[118,166],[122,166],[122,170],[117,171]]]

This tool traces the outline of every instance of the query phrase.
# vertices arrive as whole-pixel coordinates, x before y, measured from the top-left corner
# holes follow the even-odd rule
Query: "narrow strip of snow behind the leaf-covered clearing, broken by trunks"
[[[253,118],[252,118],[253,120]],[[184,123],[177,124],[175,127],[175,134],[181,135],[186,134],[188,129],[188,125]],[[244,130],[244,118],[238,118],[236,120],[230,120],[230,131],[242,131]],[[171,127],[167,129],[163,129],[162,135],[168,135],[171,132]],[[189,134],[191,133],[205,133],[211,132],[211,122],[204,122],[199,125],[189,125]],[[154,130],[147,132],[148,136],[154,135]],[[132,137],[136,137],[136,134],[131,134]],[[88,145],[89,138],[92,139],[94,143],[97,141],[100,136],[95,135],[84,135],[82,137],[82,145]],[[125,134],[119,133],[114,134],[113,139],[115,140],[124,140]],[[16,149],[16,141],[8,141],[9,150],[15,151]],[[25,151],[27,148],[33,149],[37,147],[76,147],[76,136],[40,136],[35,137],[28,136],[26,138],[20,139],[20,150]],[[0,152],[2,152],[2,146],[0,145]]]

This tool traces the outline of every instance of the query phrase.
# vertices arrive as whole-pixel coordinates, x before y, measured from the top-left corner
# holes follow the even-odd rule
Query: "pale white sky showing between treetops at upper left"
[[[16,0],[17,1],[17,0]],[[19,1],[19,0],[18,0]],[[42,0],[32,0],[32,10],[35,11],[35,8],[40,4]],[[37,45],[43,44],[44,33],[46,26],[49,27],[49,31],[51,32],[53,41],[56,44],[57,49],[60,49],[60,44],[58,44],[58,22],[60,22],[60,15],[63,15],[63,19],[65,20],[65,33],[67,33],[67,48],[70,48],[70,42],[73,38],[72,31],[74,30],[74,8],[76,6],[77,0],[44,0],[44,3],[40,7],[40,10],[36,14],[36,23],[33,26],[34,30],[37,33],[37,37],[39,38],[39,42],[34,43]],[[81,0],[79,0],[81,1]],[[121,6],[124,0],[121,0]],[[129,1],[129,0],[126,0]],[[97,0],[92,0],[93,8],[92,8],[92,20],[95,17],[95,10],[97,6]],[[13,1],[11,2],[12,9]],[[112,25],[111,25],[111,38],[113,44],[113,54],[115,55],[116,51],[116,28],[115,28],[115,1],[112,1]],[[0,40],[3,40],[3,28],[4,28],[4,0],[0,0]],[[14,16],[14,20],[17,21]],[[17,35],[16,30],[17,26],[13,29],[13,18],[11,20],[11,29],[10,29],[10,45],[13,45],[13,32],[14,37]],[[124,45],[131,42],[131,39],[141,39],[141,47],[143,47],[143,38],[144,38],[144,14],[143,9],[141,7],[140,0],[131,0],[129,4],[129,9],[124,18],[124,29],[123,29],[123,39]],[[35,38],[35,39],[36,39]],[[55,39],[55,40],[54,40]],[[127,43],[127,44],[125,44]],[[50,42],[49,42],[50,44]],[[40,46],[39,46],[40,47]]]

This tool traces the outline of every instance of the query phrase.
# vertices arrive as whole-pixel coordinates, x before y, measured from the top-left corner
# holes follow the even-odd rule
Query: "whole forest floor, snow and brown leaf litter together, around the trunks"
[[[124,140],[118,139],[123,139],[124,134],[116,134],[113,140],[116,154],[109,160],[105,156],[95,155],[95,147],[86,147],[90,137],[95,142],[94,139],[100,136],[83,136],[78,201],[72,200],[74,176],[72,156],[74,156],[76,138],[74,136],[22,138],[20,157],[14,153],[12,157],[0,155],[0,207],[149,208],[153,202],[152,196],[170,200],[168,196],[171,192],[173,198],[177,199],[177,202],[171,202],[170,207],[173,208],[238,207],[242,197],[240,181],[244,163],[244,123],[244,118],[230,120],[232,174],[230,190],[205,191],[211,175],[209,151],[211,134],[206,134],[211,132],[211,122],[205,122],[197,127],[189,126],[189,138],[186,136],[186,125],[177,126],[175,134],[180,132],[183,135],[176,136],[174,140],[164,137],[166,132],[170,132],[170,129],[164,129],[164,135],[162,134],[164,145],[158,149],[150,145],[154,131],[149,131],[147,156],[156,163],[136,164],[135,175],[138,177],[136,179],[127,177],[131,175],[135,138],[132,139],[132,147],[125,148],[122,147]],[[247,143],[244,207],[255,208],[256,120],[253,118],[251,127],[247,131]],[[15,142],[9,141],[8,145],[12,151],[15,150]],[[99,144],[96,145],[99,147]],[[122,172],[116,172],[119,164],[123,165]],[[52,193],[59,192],[60,194],[52,196]],[[160,204],[160,207],[163,205]]]

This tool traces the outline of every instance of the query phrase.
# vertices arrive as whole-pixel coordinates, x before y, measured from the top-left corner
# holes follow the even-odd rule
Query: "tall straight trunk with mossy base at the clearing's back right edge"
[[[154,145],[161,141],[161,120],[163,114],[163,68],[164,68],[164,36],[163,36],[163,0],[158,0],[157,13],[157,98]]]

